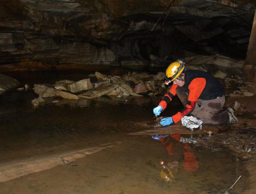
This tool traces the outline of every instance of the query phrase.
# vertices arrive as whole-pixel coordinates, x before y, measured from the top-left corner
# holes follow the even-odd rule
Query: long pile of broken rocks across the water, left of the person
[[[165,92],[163,84],[164,73],[150,75],[147,73],[128,73],[124,76],[111,76],[95,72],[97,81],[82,79],[79,81],[60,80],[54,84],[34,84],[34,92],[39,95],[32,100],[33,106],[38,106],[44,98],[61,97],[78,100],[79,98],[97,98],[103,95],[110,97],[126,97],[157,95]]]

